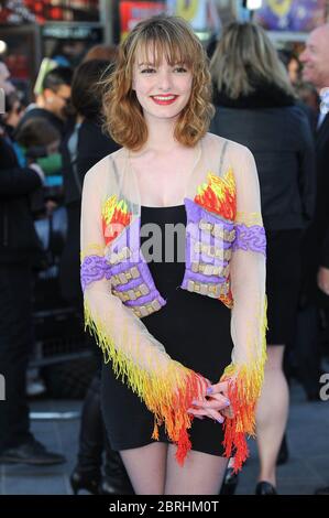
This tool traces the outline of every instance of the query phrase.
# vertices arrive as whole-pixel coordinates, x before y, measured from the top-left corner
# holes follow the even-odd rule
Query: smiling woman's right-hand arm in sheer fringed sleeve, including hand
[[[232,145],[230,143],[230,148]],[[221,411],[228,418],[224,422],[226,455],[235,455],[234,468],[238,471],[248,456],[244,435],[254,435],[255,403],[261,392],[266,357],[266,299],[265,231],[257,172],[251,152],[235,145],[231,152],[238,209],[230,263],[232,363],[220,382],[208,387],[207,401],[195,402],[198,410],[190,411],[196,416],[212,417],[212,412],[223,408],[224,399],[228,400],[230,404]]]

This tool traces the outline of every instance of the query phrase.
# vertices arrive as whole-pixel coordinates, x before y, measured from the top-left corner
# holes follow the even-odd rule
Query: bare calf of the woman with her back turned
[[[286,429],[289,389],[283,373],[284,346],[267,346],[267,361],[256,408],[257,447],[261,463],[259,481],[276,485],[276,458]]]

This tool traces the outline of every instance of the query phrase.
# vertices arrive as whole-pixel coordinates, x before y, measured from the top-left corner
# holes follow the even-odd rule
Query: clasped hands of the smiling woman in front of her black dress
[[[188,409],[198,419],[208,417],[222,423],[224,418],[232,419],[233,412],[230,409],[230,400],[228,399],[228,382],[218,382],[207,388],[204,398],[193,401],[193,408]]]

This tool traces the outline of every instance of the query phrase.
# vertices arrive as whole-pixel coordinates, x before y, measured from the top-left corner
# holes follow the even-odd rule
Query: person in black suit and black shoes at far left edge
[[[4,117],[8,122],[8,117]],[[26,369],[33,345],[32,262],[40,251],[29,196],[43,185],[35,163],[21,168],[7,126],[0,127],[0,463],[52,465],[65,462],[30,431]]]

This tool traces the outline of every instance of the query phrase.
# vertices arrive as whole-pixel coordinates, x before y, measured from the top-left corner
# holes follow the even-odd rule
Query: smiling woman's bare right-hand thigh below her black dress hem
[[[176,446],[169,444],[165,495],[218,495],[228,458],[189,451],[184,466],[175,458]]]

